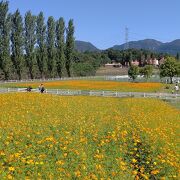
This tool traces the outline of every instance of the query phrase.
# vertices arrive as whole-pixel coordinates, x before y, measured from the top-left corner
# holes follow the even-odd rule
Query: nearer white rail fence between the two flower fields
[[[0,88],[0,93],[27,92],[26,88]],[[32,92],[39,92],[32,89]],[[97,90],[72,90],[72,89],[47,89],[47,94],[61,96],[103,96],[103,97],[139,97],[180,100],[180,94],[169,93],[145,93],[145,92],[118,92],[118,91],[97,91]]]

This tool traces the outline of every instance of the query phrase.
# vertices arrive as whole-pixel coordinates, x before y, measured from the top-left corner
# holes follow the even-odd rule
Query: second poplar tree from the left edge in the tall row
[[[12,28],[11,28],[11,50],[12,62],[18,79],[22,78],[23,70],[23,22],[19,10],[12,15]]]

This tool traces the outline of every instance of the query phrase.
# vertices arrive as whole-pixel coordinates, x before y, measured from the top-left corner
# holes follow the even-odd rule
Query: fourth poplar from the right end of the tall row
[[[46,25],[44,24],[43,12],[40,12],[37,16],[37,64],[41,78],[44,78],[46,72]]]

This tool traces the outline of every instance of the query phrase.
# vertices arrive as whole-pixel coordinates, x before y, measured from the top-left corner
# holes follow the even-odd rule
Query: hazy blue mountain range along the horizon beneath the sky
[[[172,55],[176,55],[178,52],[180,52],[180,39],[176,39],[172,42],[167,42],[167,43],[163,43],[155,39],[144,39],[144,40],[139,40],[139,41],[130,41],[128,45],[129,45],[129,48],[131,49],[146,49],[146,50],[150,50],[154,52],[168,53]],[[108,49],[123,50],[124,47],[125,47],[125,44],[121,44],[121,45],[115,45]],[[85,42],[85,41],[75,41],[75,49],[80,52],[101,51],[92,43]]]

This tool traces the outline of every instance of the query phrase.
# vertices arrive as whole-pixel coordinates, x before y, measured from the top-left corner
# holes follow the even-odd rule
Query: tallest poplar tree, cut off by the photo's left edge
[[[0,68],[3,71],[4,79],[10,76],[10,22],[8,14],[8,2],[0,2]]]

